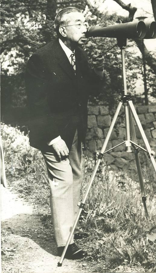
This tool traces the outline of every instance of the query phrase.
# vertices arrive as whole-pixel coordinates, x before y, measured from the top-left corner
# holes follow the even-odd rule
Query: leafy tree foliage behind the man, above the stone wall
[[[1,11],[1,63],[2,81],[1,94],[5,106],[25,106],[24,71],[30,55],[47,42],[55,39],[54,17],[56,12],[65,6],[72,5],[84,11],[90,25],[99,23],[113,24],[118,22],[116,14],[101,14],[97,7],[88,9],[85,1],[70,3],[56,0],[22,1],[2,0]],[[123,18],[124,19],[124,18]],[[100,54],[113,44],[116,39],[88,39],[84,49],[91,60],[93,54]],[[126,68],[129,93],[134,96],[133,86],[140,72],[141,60],[135,54],[136,45],[128,41],[126,49]],[[91,98],[94,103],[104,100],[114,105],[121,96],[121,54],[116,46],[105,56],[106,83],[98,98]],[[153,79],[150,79],[152,85]],[[152,93],[153,95],[153,93]],[[6,108],[6,107],[5,107]]]

